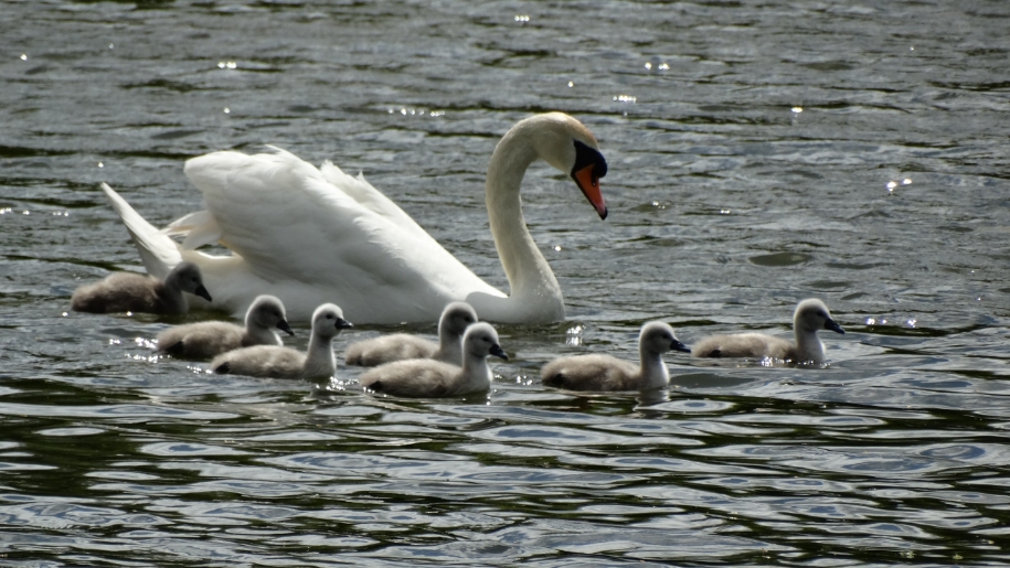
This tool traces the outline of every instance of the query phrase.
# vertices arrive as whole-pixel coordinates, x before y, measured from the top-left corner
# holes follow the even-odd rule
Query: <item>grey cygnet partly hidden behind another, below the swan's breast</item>
[[[463,362],[463,334],[477,321],[477,312],[467,302],[451,302],[438,319],[438,343],[394,333],[373,340],[359,341],[348,346],[343,358],[348,365],[374,367],[405,358],[432,358],[459,365]]]

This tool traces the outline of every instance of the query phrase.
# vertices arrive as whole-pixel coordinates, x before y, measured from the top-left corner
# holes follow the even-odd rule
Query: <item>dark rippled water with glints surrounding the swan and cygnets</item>
[[[0,26],[0,565],[1010,562],[1007,2],[8,2]],[[364,171],[503,286],[485,168],[553,109],[600,139],[610,217],[530,172],[570,315],[500,326],[488,396],[208,376],[145,341],[213,314],[66,313],[140,267],[99,182],[160,225],[200,207],[183,160],[261,143]],[[787,334],[807,297],[848,331],[825,369],[670,356],[645,399],[536,375],[634,356],[648,319]]]

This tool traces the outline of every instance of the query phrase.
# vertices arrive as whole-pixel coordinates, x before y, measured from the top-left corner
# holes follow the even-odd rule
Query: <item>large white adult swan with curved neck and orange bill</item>
[[[159,232],[116,192],[119,213],[148,271],[181,260],[200,265],[214,308],[241,314],[261,293],[280,298],[291,318],[337,301],[359,323],[435,321],[450,301],[469,302],[482,320],[510,323],[564,319],[561,287],[527,229],[519,187],[536,160],[570,174],[602,218],[598,179],[607,164],[593,135],[574,118],[550,112],[521,120],[488,165],[491,234],[511,294],[478,278],[362,176],[295,156],[214,152],[189,160],[185,174],[203,192],[205,211]],[[184,235],[177,245],[169,235]],[[233,256],[194,250],[220,243]]]

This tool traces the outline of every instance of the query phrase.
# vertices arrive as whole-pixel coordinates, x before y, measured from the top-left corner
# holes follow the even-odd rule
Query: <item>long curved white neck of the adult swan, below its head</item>
[[[564,319],[561,287],[527,228],[519,199],[522,178],[538,159],[530,136],[529,129],[520,128],[501,139],[488,167],[485,199],[491,235],[511,288],[510,308],[556,321]]]

